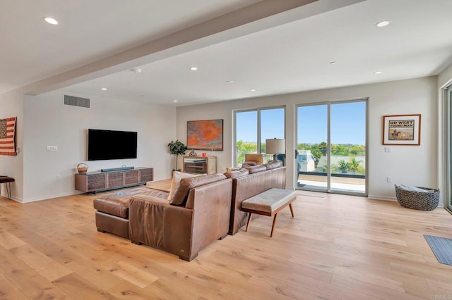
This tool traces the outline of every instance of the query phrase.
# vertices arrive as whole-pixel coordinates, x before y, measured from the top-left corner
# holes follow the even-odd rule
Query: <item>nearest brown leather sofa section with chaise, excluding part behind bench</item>
[[[222,174],[184,178],[171,200],[168,194],[144,187],[95,199],[97,230],[162,249],[185,261],[226,237],[231,179]]]

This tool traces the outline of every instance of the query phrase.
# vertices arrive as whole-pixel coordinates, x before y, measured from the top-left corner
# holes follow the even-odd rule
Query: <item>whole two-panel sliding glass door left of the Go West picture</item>
[[[296,187],[367,195],[367,100],[297,108]]]

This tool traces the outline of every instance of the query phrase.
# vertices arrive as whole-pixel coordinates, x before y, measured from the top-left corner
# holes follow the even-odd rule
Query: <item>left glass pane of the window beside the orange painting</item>
[[[236,118],[236,157],[237,165],[241,166],[245,154],[257,153],[257,111],[242,111],[235,114]]]

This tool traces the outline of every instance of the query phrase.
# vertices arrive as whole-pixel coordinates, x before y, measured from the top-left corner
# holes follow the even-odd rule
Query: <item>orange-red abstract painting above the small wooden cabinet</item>
[[[194,150],[223,150],[223,120],[187,121],[186,147]]]

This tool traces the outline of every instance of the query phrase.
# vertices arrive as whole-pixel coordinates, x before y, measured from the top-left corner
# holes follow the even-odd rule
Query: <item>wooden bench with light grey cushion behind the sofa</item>
[[[246,230],[248,231],[249,223],[251,223],[251,215],[257,213],[258,215],[268,215],[273,217],[273,225],[271,226],[270,237],[273,237],[273,230],[275,230],[276,218],[281,209],[289,206],[292,218],[294,218],[294,210],[292,202],[297,199],[297,192],[290,189],[267,189],[261,194],[252,196],[249,199],[242,201],[242,211],[249,213],[248,222],[246,223]]]

